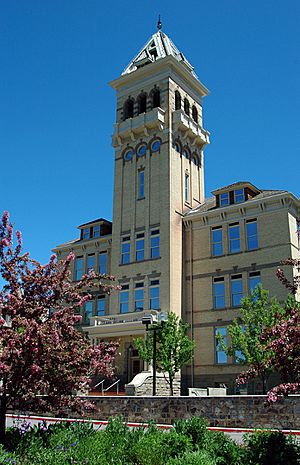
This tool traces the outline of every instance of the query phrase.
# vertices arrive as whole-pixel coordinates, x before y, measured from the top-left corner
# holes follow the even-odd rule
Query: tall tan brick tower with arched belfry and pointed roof
[[[117,112],[110,313],[182,311],[182,216],[204,201],[202,98],[193,67],[158,30],[112,81]]]

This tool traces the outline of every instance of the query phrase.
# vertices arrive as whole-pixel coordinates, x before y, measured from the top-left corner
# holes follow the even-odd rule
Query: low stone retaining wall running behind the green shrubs
[[[91,400],[91,398],[89,398]],[[210,426],[300,429],[300,396],[266,407],[265,396],[225,397],[96,397],[94,419],[122,415],[126,421],[172,424],[201,416]]]

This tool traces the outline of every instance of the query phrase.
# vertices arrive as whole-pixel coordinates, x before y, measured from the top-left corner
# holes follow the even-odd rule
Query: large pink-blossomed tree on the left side
[[[117,343],[91,346],[76,329],[78,309],[91,288],[109,293],[109,276],[92,272],[71,283],[66,260],[46,265],[22,253],[22,238],[5,212],[0,222],[0,442],[8,408],[62,411],[87,407],[74,394],[88,390],[92,376],[113,374]],[[37,396],[40,394],[40,396]]]

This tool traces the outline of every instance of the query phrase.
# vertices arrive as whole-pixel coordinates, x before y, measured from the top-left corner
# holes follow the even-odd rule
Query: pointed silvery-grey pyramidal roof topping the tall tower
[[[190,73],[196,79],[198,79],[196,73],[194,72],[193,66],[185,58],[183,53],[178,50],[172,40],[164,32],[162,32],[160,21],[158,23],[157,32],[150,37],[144,47],[124,69],[122,75],[130,74],[142,66],[148,65],[170,55],[176,58],[176,60],[184,65],[190,71]]]

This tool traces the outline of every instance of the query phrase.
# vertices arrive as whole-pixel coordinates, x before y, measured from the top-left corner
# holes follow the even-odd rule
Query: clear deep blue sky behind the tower
[[[211,94],[206,194],[237,180],[299,196],[298,0],[9,0],[1,6],[0,210],[46,262],[111,219],[118,77],[163,30]],[[185,8],[184,8],[185,6]]]

